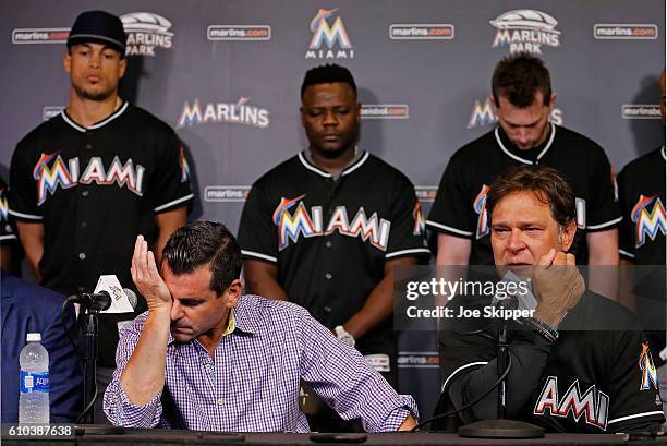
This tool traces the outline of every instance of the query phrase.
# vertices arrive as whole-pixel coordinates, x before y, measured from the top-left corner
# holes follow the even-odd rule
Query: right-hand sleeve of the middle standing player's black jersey
[[[399,184],[401,185],[393,200],[391,229],[385,258],[430,255],[424,238],[422,206],[414,193],[414,186],[407,178],[403,178]]]

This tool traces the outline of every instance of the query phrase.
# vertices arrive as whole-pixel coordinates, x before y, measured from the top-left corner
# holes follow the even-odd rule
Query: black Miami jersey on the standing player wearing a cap
[[[173,130],[128,103],[88,129],[63,110],[33,130],[16,146],[10,185],[11,215],[44,224],[41,285],[65,296],[92,291],[102,274],[132,287],[136,236],[153,244],[156,214],[193,197]],[[102,317],[100,364],[116,364],[117,322],[132,317]]]

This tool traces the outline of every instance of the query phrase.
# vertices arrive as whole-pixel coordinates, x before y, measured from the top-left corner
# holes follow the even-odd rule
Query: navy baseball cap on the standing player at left
[[[123,22],[119,17],[106,11],[86,11],[78,14],[74,21],[68,37],[68,48],[76,44],[96,41],[119,50],[121,58],[124,58],[126,40]]]

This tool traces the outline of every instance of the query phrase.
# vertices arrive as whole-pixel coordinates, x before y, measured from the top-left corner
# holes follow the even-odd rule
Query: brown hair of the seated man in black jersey
[[[486,213],[492,219],[494,207],[514,192],[532,192],[542,203],[549,205],[551,217],[565,228],[577,219],[574,193],[556,169],[545,166],[519,166],[496,178],[486,194]]]

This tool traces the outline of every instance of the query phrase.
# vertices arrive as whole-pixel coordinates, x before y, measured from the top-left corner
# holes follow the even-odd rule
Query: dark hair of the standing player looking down
[[[500,106],[499,97],[502,96],[514,107],[530,107],[537,92],[542,93],[543,104],[548,106],[551,101],[551,80],[542,59],[518,52],[498,62],[492,79],[496,106]]]

